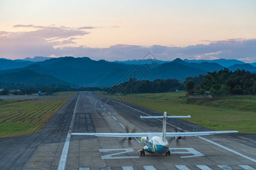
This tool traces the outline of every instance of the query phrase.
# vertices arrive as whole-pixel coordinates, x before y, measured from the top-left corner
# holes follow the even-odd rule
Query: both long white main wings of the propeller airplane
[[[221,133],[237,133],[238,131],[197,131],[197,132],[167,132],[166,137],[192,137],[203,135],[214,135]],[[71,133],[72,135],[88,135],[96,137],[152,137],[161,136],[162,133]]]

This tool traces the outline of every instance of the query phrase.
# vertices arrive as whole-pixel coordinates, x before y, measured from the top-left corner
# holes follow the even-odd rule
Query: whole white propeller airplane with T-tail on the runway
[[[191,116],[167,116],[164,112],[163,116],[141,116],[141,118],[163,118],[162,133],[71,133],[72,135],[93,135],[96,137],[123,137],[131,140],[131,138],[141,138],[142,150],[141,156],[145,156],[145,151],[150,154],[166,154],[171,155],[170,145],[166,137],[180,139],[181,137],[192,137],[202,135],[214,135],[223,133],[238,133],[238,131],[193,131],[193,132],[166,132],[167,118],[185,118]]]

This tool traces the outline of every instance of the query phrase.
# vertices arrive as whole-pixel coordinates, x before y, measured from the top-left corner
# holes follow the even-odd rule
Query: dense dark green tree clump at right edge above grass
[[[185,81],[185,87],[190,95],[200,95],[210,92],[213,95],[255,95],[256,74],[245,70],[229,69],[214,71],[200,78],[189,78]]]

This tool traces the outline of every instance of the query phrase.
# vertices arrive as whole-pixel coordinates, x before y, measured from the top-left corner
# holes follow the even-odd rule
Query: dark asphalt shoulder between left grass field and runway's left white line
[[[22,169],[38,146],[64,142],[76,100],[69,100],[39,133],[0,138],[0,169]]]

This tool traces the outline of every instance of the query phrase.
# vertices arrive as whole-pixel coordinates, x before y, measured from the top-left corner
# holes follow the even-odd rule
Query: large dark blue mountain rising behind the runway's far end
[[[94,61],[88,57],[60,57],[36,62],[26,67],[79,86],[112,86],[129,72],[132,65]]]

